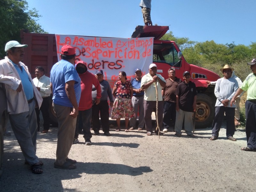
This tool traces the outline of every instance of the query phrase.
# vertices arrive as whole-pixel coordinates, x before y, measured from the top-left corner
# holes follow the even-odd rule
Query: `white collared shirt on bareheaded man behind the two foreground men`
[[[42,97],[49,97],[52,93],[50,88],[50,77],[47,77],[45,75],[41,76],[39,79],[36,77],[33,79],[34,84],[36,87],[40,87],[40,94]]]

